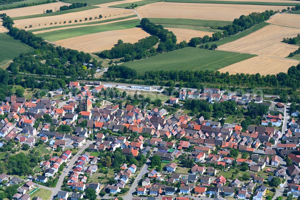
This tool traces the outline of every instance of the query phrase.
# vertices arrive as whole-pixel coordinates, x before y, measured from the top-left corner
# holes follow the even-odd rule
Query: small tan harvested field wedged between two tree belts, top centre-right
[[[169,31],[172,31],[176,37],[177,42],[189,41],[190,38],[194,37],[203,37],[204,35],[212,36],[213,32],[197,31],[192,29],[177,29],[177,28],[166,28]]]

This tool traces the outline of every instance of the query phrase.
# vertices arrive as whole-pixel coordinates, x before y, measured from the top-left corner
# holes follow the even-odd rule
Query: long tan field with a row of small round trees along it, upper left
[[[100,14],[103,16],[102,19],[94,19],[95,17],[99,17]],[[17,28],[24,29],[25,26],[29,27],[29,25],[32,25],[33,27],[31,29],[41,29],[50,26],[61,26],[61,25],[71,24],[68,23],[70,20],[72,23],[74,23],[74,21],[77,20],[78,22],[76,24],[78,24],[78,23],[87,23],[87,22],[113,19],[118,17],[126,17],[132,14],[134,14],[134,11],[131,10],[116,9],[116,8],[95,8],[91,10],[61,14],[56,16],[14,20],[15,23],[14,26]],[[89,17],[92,17],[93,20],[87,20],[87,21],[84,20],[85,18],[89,19]],[[82,20],[82,22],[79,22],[79,20]],[[65,24],[64,21],[66,21]],[[57,24],[55,24],[55,22],[57,22]],[[50,25],[50,23],[53,23],[53,25]]]

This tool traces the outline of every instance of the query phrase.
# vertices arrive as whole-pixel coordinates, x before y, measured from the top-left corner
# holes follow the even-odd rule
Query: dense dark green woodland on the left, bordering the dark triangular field
[[[3,18],[3,25],[9,29],[9,35],[35,48],[35,52],[21,54],[13,59],[8,67],[13,74],[22,71],[32,74],[55,75],[56,77],[70,76],[75,79],[95,74],[96,68],[99,66],[97,61],[93,61],[93,66],[89,70],[83,65],[84,62],[88,63],[92,59],[90,54],[60,46],[54,47],[31,32],[12,27],[13,20],[6,14],[0,16]],[[41,60],[46,60],[46,63],[39,62]]]

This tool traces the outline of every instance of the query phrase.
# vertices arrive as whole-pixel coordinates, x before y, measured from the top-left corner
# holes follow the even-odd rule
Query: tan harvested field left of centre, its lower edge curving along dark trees
[[[106,31],[55,41],[54,44],[87,53],[111,49],[119,39],[134,43],[150,36],[140,28]]]

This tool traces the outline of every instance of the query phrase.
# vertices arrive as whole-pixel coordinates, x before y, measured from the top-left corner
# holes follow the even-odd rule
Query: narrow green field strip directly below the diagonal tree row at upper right
[[[232,41],[235,41],[239,38],[245,37],[246,35],[249,35],[250,33],[253,33],[253,32],[255,32],[259,29],[262,29],[265,26],[268,26],[268,25],[269,25],[269,23],[262,22],[262,23],[259,23],[259,24],[256,24],[256,25],[250,27],[249,29],[246,29],[242,32],[239,32],[235,35],[231,35],[231,36],[229,36],[227,38],[223,38],[222,40],[219,40],[219,41],[208,42],[207,44],[208,45],[217,44],[218,46],[220,46],[222,44],[226,44],[228,42],[232,42]]]

